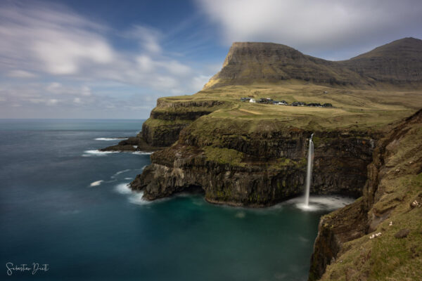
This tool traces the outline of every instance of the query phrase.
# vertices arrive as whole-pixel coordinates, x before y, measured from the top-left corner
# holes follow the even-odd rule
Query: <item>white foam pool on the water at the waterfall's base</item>
[[[351,204],[354,202],[354,199],[342,196],[311,196],[309,197],[309,205],[305,205],[304,201],[303,197],[296,197],[283,204],[295,204],[302,211],[333,211]]]

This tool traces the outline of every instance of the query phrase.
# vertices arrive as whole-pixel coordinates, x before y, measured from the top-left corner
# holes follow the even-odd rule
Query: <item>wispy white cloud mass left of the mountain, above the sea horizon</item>
[[[111,37],[135,48],[123,51]],[[138,116],[147,117],[156,98],[199,91],[213,74],[173,58],[162,47],[165,40],[153,27],[114,30],[61,5],[0,4],[0,108],[13,104],[42,114],[43,106],[58,107],[58,113],[146,107]],[[103,87],[110,83],[118,85],[114,93]],[[0,117],[15,117],[0,111]]]

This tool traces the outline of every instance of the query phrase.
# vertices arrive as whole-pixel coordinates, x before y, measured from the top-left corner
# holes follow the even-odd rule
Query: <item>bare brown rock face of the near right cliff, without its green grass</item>
[[[319,280],[323,277],[326,267],[338,259],[340,254],[344,254],[348,250],[343,249],[343,244],[377,230],[378,226],[390,217],[392,211],[399,204],[406,205],[407,201],[404,198],[407,194],[411,198],[410,201],[413,202],[414,195],[411,195],[410,190],[400,189],[397,183],[396,185],[394,183],[389,184],[389,181],[395,181],[398,176],[405,178],[421,173],[421,142],[414,140],[415,132],[420,131],[421,126],[422,110],[419,110],[395,129],[392,129],[387,136],[381,138],[373,150],[373,161],[367,166],[368,180],[364,185],[362,198],[321,218],[311,259],[310,281]],[[399,148],[399,145],[402,145],[402,148]],[[399,157],[395,158],[396,155],[399,155]],[[402,168],[397,169],[396,165]],[[389,185],[393,185],[395,188],[386,190],[386,186]],[[385,196],[386,193],[388,193],[388,196]],[[416,194],[420,195],[422,192],[418,193],[418,190],[416,190]],[[404,212],[409,212],[409,209],[404,209]],[[402,213],[399,213],[397,216],[401,215]],[[394,221],[394,219],[392,220]],[[398,219],[395,223],[399,223]],[[405,225],[407,224],[409,222],[405,223]],[[401,229],[394,236],[400,239],[407,237],[407,235],[409,235],[409,229]],[[369,251],[371,250],[369,249]],[[362,276],[367,275],[366,272],[360,273],[359,268],[350,268],[350,270],[354,270],[356,275],[358,273]],[[347,273],[345,274],[347,275]],[[337,275],[324,276],[324,280],[337,280],[335,278],[338,277]]]

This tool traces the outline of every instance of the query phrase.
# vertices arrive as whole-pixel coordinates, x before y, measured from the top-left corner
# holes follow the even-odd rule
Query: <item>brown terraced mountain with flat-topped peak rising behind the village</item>
[[[235,42],[222,70],[204,89],[288,79],[344,86],[422,82],[422,40],[399,39],[342,61],[314,58],[281,44]]]

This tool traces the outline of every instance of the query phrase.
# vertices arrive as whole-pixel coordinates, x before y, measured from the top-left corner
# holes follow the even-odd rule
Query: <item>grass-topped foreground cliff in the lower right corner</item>
[[[319,223],[309,280],[419,280],[422,110],[378,141],[364,195]]]

